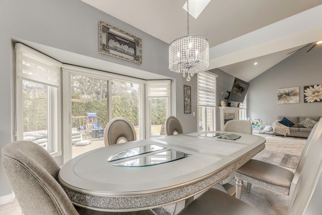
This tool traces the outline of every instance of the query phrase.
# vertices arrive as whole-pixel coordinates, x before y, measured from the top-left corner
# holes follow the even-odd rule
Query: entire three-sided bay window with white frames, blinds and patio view
[[[162,134],[170,116],[170,80],[145,81],[67,65],[20,43],[16,64],[17,140],[34,141],[53,157],[63,151],[63,163],[103,147],[104,128],[114,117],[127,118],[137,139],[143,139],[155,127]]]

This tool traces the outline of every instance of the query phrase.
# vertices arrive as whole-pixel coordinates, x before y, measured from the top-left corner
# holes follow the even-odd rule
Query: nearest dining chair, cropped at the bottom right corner
[[[322,135],[312,142],[314,147],[307,149],[307,157],[303,169],[290,198],[288,215],[321,214],[322,205]],[[210,188],[182,209],[177,215],[221,214],[221,215],[253,215],[262,214],[251,205],[234,198],[218,189]]]

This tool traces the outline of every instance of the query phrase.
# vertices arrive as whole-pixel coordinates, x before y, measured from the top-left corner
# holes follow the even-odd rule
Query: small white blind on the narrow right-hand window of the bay
[[[170,80],[147,81],[146,95],[147,97],[170,97],[171,81]]]

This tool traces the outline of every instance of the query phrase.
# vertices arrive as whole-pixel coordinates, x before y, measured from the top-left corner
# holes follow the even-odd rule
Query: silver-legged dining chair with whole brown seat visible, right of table
[[[303,165],[307,157],[310,156],[307,151],[314,147],[313,145],[321,133],[322,118],[314,125],[305,142],[295,173],[283,167],[255,159],[251,159],[237,169],[235,174],[236,197],[240,199],[244,181],[247,181],[247,192],[250,192],[252,184],[256,184],[271,191],[292,195]]]

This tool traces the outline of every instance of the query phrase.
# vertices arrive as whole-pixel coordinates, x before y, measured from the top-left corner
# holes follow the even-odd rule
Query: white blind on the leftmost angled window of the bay
[[[21,43],[16,43],[16,57],[19,79],[59,87],[61,62]]]

